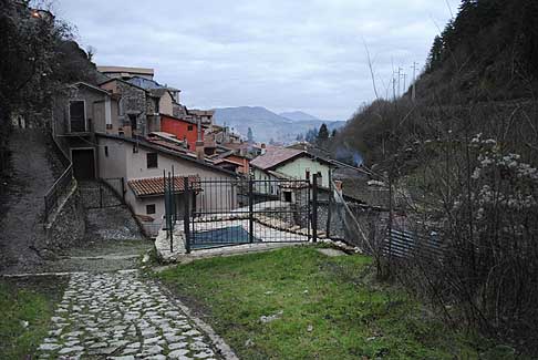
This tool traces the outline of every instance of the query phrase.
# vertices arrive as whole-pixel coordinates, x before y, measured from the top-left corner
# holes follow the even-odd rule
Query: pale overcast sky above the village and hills
[[[422,68],[457,0],[55,0],[100,65],[154,68],[188,107],[261,105],[348,120],[393,66]],[[403,86],[403,79],[401,81]]]

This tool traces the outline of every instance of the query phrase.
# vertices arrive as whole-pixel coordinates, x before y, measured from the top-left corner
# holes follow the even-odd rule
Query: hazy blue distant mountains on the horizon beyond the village
[[[311,128],[319,128],[325,123],[329,131],[339,128],[344,121],[323,121],[313,115],[294,111],[276,114],[262,106],[239,106],[215,109],[215,123],[227,125],[242,136],[247,136],[250,127],[255,141],[281,143],[296,141],[297,135],[306,134]]]

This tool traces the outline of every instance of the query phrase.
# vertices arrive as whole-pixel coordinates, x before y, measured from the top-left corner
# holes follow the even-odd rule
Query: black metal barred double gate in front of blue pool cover
[[[254,243],[315,241],[314,184],[300,179],[188,183],[183,196],[187,251]]]

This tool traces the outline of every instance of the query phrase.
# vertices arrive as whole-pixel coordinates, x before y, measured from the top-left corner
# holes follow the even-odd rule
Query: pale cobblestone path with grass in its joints
[[[223,359],[137,270],[73,274],[52,323],[38,359]]]

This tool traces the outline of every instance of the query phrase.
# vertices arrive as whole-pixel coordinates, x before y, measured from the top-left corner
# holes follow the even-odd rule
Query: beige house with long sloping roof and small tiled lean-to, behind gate
[[[118,178],[125,181],[125,200],[134,214],[153,235],[161,228],[165,214],[163,173],[172,172],[176,176],[176,189],[184,191],[183,178],[190,182],[199,179],[230,181],[236,174],[189,156],[132,138],[97,134],[99,174],[102,178]],[[190,204],[200,210],[216,210],[224,202],[231,202],[237,207],[237,194],[225,194],[218,187],[200,186],[193,195]],[[183,214],[185,203],[177,197],[177,213]]]

